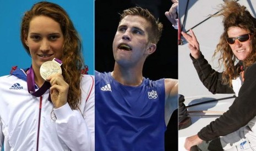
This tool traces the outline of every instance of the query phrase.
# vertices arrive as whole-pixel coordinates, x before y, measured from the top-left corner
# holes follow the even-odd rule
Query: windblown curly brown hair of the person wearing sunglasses
[[[224,84],[232,85],[232,79],[236,78],[239,74],[238,68],[235,67],[236,56],[232,53],[230,45],[226,42],[228,37],[227,31],[230,27],[239,27],[247,30],[253,34],[250,37],[252,51],[247,56],[246,60],[243,61],[243,66],[248,67],[256,61],[256,40],[255,40],[255,27],[256,19],[250,15],[249,11],[243,5],[235,1],[225,1],[224,4],[220,5],[221,9],[215,16],[223,16],[224,32],[220,37],[219,44],[217,44],[214,56],[220,53],[219,65],[222,62],[224,65],[224,72],[222,74],[222,82]]]

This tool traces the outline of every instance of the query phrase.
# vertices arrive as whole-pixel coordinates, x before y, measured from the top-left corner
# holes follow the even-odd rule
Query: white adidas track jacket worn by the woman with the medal
[[[29,94],[25,72],[14,72],[0,77],[0,150],[94,150],[94,75],[81,75],[77,111],[53,108],[49,90]]]

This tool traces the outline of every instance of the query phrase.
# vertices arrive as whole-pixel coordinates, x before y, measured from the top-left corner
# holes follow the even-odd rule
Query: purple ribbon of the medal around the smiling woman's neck
[[[53,59],[53,61],[56,61],[59,63],[59,65],[62,65],[62,61],[58,60],[58,59]],[[41,88],[39,88],[37,91],[35,91],[35,76],[34,76],[34,71],[31,67],[29,68],[28,71],[28,75],[27,75],[27,85],[28,85],[28,91],[31,95],[34,95],[36,97],[40,97],[43,94],[45,94],[45,92],[51,88],[51,84],[50,82],[45,81],[45,83],[43,83],[43,85],[41,86]],[[48,100],[51,101],[51,95],[49,94]]]

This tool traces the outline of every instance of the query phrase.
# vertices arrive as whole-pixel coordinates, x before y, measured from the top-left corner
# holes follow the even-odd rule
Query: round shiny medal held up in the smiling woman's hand
[[[61,66],[56,61],[46,61],[40,67],[40,74],[43,79],[47,79],[50,75],[62,73]]]

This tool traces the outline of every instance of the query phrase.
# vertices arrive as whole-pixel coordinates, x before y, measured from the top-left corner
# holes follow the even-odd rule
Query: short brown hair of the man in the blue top
[[[151,28],[149,31],[149,42],[157,44],[162,34],[163,25],[159,20],[155,19],[154,15],[150,13],[148,9],[143,9],[141,7],[133,7],[123,10],[123,13],[120,16],[120,21],[127,15],[132,16],[141,16],[146,19],[146,21],[150,22]]]

